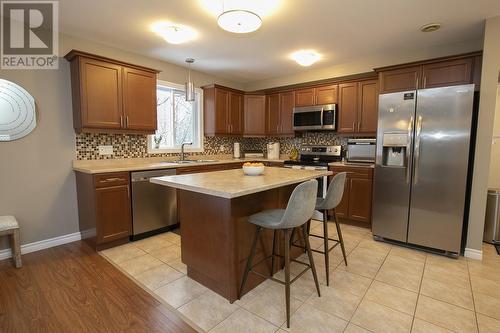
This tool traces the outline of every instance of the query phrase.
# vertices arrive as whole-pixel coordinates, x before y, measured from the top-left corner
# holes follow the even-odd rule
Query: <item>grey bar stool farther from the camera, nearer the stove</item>
[[[337,214],[335,213],[335,208],[342,201],[342,196],[344,194],[344,186],[346,179],[346,172],[341,172],[335,175],[328,186],[328,192],[326,193],[326,197],[316,198],[316,210],[323,214],[323,236],[309,234],[311,237],[322,238],[323,239],[323,251],[313,249],[312,251],[321,253],[325,255],[325,269],[326,269],[326,285],[330,285],[330,251],[332,251],[337,245],[340,244],[342,249],[342,255],[344,256],[344,263],[347,266],[347,256],[345,253],[344,240],[342,238],[342,231],[340,230],[340,224],[337,220]],[[337,227],[337,234],[339,239],[329,238],[328,237],[328,211],[333,210],[333,220],[335,222],[335,226]],[[308,229],[310,224],[308,224]],[[294,232],[292,232],[292,240],[293,240]],[[332,247],[329,247],[329,242],[333,241],[335,244]],[[296,243],[292,243],[295,247],[303,248],[301,245],[297,245]]]

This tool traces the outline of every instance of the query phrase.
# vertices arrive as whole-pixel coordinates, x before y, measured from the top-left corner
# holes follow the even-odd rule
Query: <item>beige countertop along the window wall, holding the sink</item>
[[[212,164],[227,164],[241,163],[247,161],[261,162],[276,162],[282,163],[285,158],[282,156],[279,160],[270,160],[267,158],[240,158],[234,159],[231,155],[195,155],[189,156],[187,159],[203,159],[215,160],[212,162],[196,162],[179,164],[174,163],[178,156],[171,157],[148,157],[148,158],[120,158],[108,160],[76,160],[73,161],[73,170],[88,174],[107,173],[107,172],[124,172],[124,171],[141,171],[141,170],[158,170],[158,169],[177,169],[192,166],[212,165]]]

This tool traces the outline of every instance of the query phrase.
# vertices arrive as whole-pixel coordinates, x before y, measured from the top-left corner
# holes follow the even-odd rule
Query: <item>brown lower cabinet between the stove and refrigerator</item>
[[[340,172],[347,172],[344,195],[335,210],[337,217],[370,224],[372,215],[373,168],[369,166],[333,166],[330,167],[330,170],[333,171],[333,176]]]

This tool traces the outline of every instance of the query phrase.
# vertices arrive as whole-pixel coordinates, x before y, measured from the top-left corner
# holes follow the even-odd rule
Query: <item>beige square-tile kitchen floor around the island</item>
[[[290,329],[281,285],[266,281],[229,304],[186,276],[174,233],[101,254],[200,331],[500,332],[500,256],[493,246],[484,245],[483,261],[455,260],[376,242],[367,229],[342,230],[349,265],[336,248],[327,287],[323,256],[314,254],[322,295],[310,273],[292,285]],[[312,231],[321,234],[321,224],[313,221]],[[321,240],[313,244],[322,247]],[[292,274],[300,269],[292,265]]]

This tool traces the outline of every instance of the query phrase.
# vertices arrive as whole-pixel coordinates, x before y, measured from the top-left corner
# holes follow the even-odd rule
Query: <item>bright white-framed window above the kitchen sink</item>
[[[148,135],[148,153],[203,152],[203,91],[195,88],[195,101],[186,102],[184,86],[158,81],[156,89],[158,129]]]

